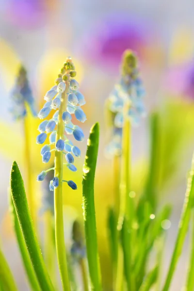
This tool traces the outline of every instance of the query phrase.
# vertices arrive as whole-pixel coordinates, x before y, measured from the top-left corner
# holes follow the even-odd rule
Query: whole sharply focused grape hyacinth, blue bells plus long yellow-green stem
[[[47,103],[38,113],[40,119],[48,118],[51,110],[56,110],[48,123],[41,123],[37,136],[37,143],[43,144],[49,135],[49,145],[45,145],[41,149],[43,162],[49,162],[51,152],[55,152],[54,167],[41,172],[38,175],[38,180],[43,180],[46,177],[45,173],[54,170],[54,178],[49,182],[49,190],[54,191],[54,216],[55,216],[55,241],[57,250],[57,259],[61,275],[61,280],[64,290],[70,290],[67,261],[64,241],[64,225],[63,225],[63,196],[62,188],[65,182],[72,190],[77,189],[77,185],[72,180],[64,180],[64,166],[72,172],[77,170],[74,166],[74,157],[80,157],[80,149],[73,147],[72,141],[66,136],[73,135],[77,141],[84,139],[84,134],[79,126],[75,126],[71,121],[71,114],[84,122],[86,116],[81,109],[85,103],[79,90],[79,83],[74,79],[76,76],[75,66],[72,59],[69,57],[61,69],[58,78],[55,80],[55,85],[46,93],[44,99]],[[78,94],[79,97],[76,97]],[[73,96],[73,98],[72,98]],[[81,96],[81,97],[80,97]],[[80,100],[80,102],[79,102]],[[49,118],[48,118],[49,119]],[[52,149],[50,149],[53,147]],[[72,150],[73,148],[73,150]]]

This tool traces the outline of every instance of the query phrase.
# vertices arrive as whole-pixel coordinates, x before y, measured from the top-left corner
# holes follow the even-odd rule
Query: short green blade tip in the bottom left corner
[[[0,288],[3,291],[17,291],[16,283],[9,265],[0,249]]]

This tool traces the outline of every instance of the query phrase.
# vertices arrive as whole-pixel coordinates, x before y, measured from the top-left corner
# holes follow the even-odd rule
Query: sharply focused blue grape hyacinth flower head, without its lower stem
[[[54,161],[56,162],[57,159],[58,161],[60,159],[67,169],[72,172],[77,171],[74,159],[81,157],[81,151],[77,146],[73,145],[73,142],[69,140],[66,134],[72,135],[77,141],[83,141],[83,131],[79,126],[73,124],[72,114],[75,114],[76,119],[81,123],[86,120],[86,115],[81,108],[85,104],[85,99],[81,92],[78,91],[79,83],[74,79],[75,76],[75,66],[69,57],[55,80],[55,85],[45,94],[46,103],[38,113],[38,117],[45,119],[53,109],[56,112],[52,113],[50,120],[44,120],[40,123],[38,127],[40,134],[36,138],[38,144],[44,144],[47,134],[49,136],[49,144],[42,146],[40,150],[44,163],[50,162],[51,152],[54,151]],[[65,181],[73,190],[77,189],[77,185],[72,180],[61,180],[63,168],[57,170],[56,164],[53,168],[41,172],[37,179],[39,181],[43,180],[44,175],[50,170],[54,170],[54,178],[49,183],[50,191],[58,191],[55,189],[61,187],[62,181]]]

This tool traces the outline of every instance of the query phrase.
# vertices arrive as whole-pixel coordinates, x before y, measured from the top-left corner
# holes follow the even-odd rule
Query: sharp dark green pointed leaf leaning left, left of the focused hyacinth
[[[19,226],[21,228],[40,287],[42,291],[53,291],[54,288],[50,281],[41,250],[34,233],[23,179],[16,162],[13,162],[12,165],[10,184],[12,200],[19,221]]]

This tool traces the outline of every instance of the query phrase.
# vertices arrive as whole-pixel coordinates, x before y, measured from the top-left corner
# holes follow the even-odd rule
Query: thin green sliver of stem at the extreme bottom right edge
[[[191,255],[187,274],[186,291],[194,290],[194,209],[192,210]]]

